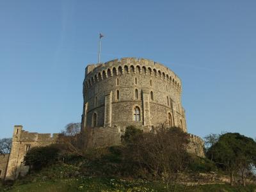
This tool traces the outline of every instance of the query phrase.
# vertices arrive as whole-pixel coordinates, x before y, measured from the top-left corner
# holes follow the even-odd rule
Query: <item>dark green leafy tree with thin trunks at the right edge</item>
[[[245,186],[246,176],[256,165],[256,142],[239,133],[227,132],[207,150],[207,156],[230,174],[231,185],[236,175],[239,175]]]

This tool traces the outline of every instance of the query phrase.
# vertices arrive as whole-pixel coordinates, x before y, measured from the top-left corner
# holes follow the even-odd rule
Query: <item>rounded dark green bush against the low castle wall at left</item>
[[[44,166],[55,163],[58,160],[59,152],[60,149],[55,145],[33,147],[26,153],[24,163],[33,170],[40,170]]]

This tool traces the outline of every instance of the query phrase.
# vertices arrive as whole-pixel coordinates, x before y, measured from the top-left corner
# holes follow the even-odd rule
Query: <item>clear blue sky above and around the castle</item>
[[[148,58],[183,84],[188,131],[256,137],[256,1],[0,0],[0,138],[80,122],[84,68]]]

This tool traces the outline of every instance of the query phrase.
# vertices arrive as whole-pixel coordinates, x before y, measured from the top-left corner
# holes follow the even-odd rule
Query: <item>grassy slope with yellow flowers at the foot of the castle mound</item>
[[[10,188],[0,185],[0,191],[166,191],[161,182],[147,180],[129,180],[116,177],[88,177],[84,174],[76,175],[79,167],[74,164],[55,164],[44,168],[40,172],[31,173],[24,179],[17,180]],[[211,184],[204,186],[177,186],[177,191],[255,191],[255,186],[231,187],[228,184]]]

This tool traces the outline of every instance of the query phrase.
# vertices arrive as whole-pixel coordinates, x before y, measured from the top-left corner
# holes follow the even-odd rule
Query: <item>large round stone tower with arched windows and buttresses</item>
[[[187,132],[181,93],[179,77],[151,60],[122,58],[88,65],[82,131],[128,125],[150,130],[165,123]]]

